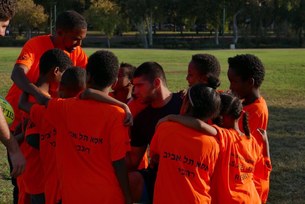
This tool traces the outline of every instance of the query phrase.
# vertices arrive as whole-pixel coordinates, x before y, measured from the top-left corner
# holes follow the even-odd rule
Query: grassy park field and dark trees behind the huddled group
[[[24,43],[54,33],[54,16],[69,9],[83,14],[90,24],[82,42],[88,56],[110,45],[120,62],[139,66],[156,61],[165,70],[170,91],[188,87],[185,78],[193,54],[217,57],[222,69],[219,90],[225,91],[228,57],[259,57],[266,69],[260,93],[269,110],[273,167],[267,203],[305,203],[305,49],[300,48],[305,1],[66,0],[57,2],[56,9],[51,0],[14,3],[9,34],[0,39],[1,97],[13,83],[10,75]],[[230,50],[231,44],[248,49]],[[13,202],[12,191],[6,149],[0,145],[0,204]]]

